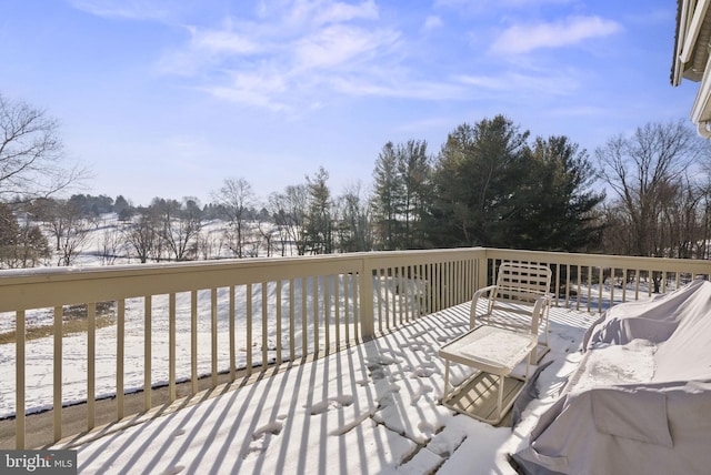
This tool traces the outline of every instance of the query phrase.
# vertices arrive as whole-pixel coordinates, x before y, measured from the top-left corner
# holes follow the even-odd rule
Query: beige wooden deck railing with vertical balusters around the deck
[[[649,295],[648,282],[654,280],[659,291],[665,292],[711,273],[707,261],[481,247],[0,271],[0,319],[6,326],[13,323],[14,330],[14,361],[2,364],[14,365],[16,402],[10,412],[16,447],[34,445],[26,439],[26,414],[37,411],[27,406],[26,387],[37,384],[28,381],[27,371],[27,351],[34,344],[28,335],[38,325],[29,316],[36,313],[50,314],[44,325],[53,351],[44,364],[52,368],[52,391],[46,407],[53,413],[53,439],[59,441],[71,435],[62,433],[67,404],[62,355],[66,320],[76,309],[81,309],[86,321],[86,427],[91,429],[96,400],[104,396],[97,395],[97,356],[107,350],[97,346],[97,334],[104,324],[116,332],[111,334],[113,420],[119,421],[127,416],[126,361],[137,356],[127,354],[129,337],[142,338],[141,390],[143,410],[150,410],[156,386],[167,385],[174,401],[180,381],[188,381],[194,394],[200,378],[207,377],[216,387],[220,373],[234,381],[239,370],[249,374],[319,356],[467,302],[477,289],[492,282],[497,263],[504,260],[550,265],[557,304],[588,311]],[[610,290],[603,291],[600,282]],[[109,323],[100,323],[107,312]],[[136,325],[142,325],[138,336]],[[207,344],[199,340],[200,329],[206,327]],[[156,374],[157,340],[167,342],[167,376]],[[189,353],[187,367],[177,363],[178,348]]]

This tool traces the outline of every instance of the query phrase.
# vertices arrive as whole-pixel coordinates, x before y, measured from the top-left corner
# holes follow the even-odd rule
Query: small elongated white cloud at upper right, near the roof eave
[[[567,47],[592,38],[607,37],[621,29],[617,21],[597,16],[570,17],[557,22],[514,24],[497,38],[490,51],[518,54],[540,48]]]

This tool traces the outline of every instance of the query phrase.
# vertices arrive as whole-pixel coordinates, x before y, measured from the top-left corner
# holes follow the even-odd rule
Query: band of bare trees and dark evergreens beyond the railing
[[[475,245],[707,259],[708,152],[682,122],[648,124],[593,161],[564,135],[531,138],[497,115],[459,125],[437,153],[421,140],[387,143],[372,188],[337,196],[321,168],[267,199],[237,178],[204,205],[84,194],[0,203],[0,266],[70,265],[90,232],[104,264]]]

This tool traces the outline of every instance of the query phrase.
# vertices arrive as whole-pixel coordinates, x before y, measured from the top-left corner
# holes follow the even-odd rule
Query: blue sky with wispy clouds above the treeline
[[[61,123],[83,192],[257,198],[323,166],[334,195],[372,183],[388,142],[435,154],[502,113],[592,154],[688,120],[669,81],[672,0],[4,0],[0,93]]]

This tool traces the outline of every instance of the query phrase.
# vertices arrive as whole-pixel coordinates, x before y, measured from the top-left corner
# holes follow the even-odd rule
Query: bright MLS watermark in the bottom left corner
[[[0,451],[0,474],[77,475],[77,451]]]

